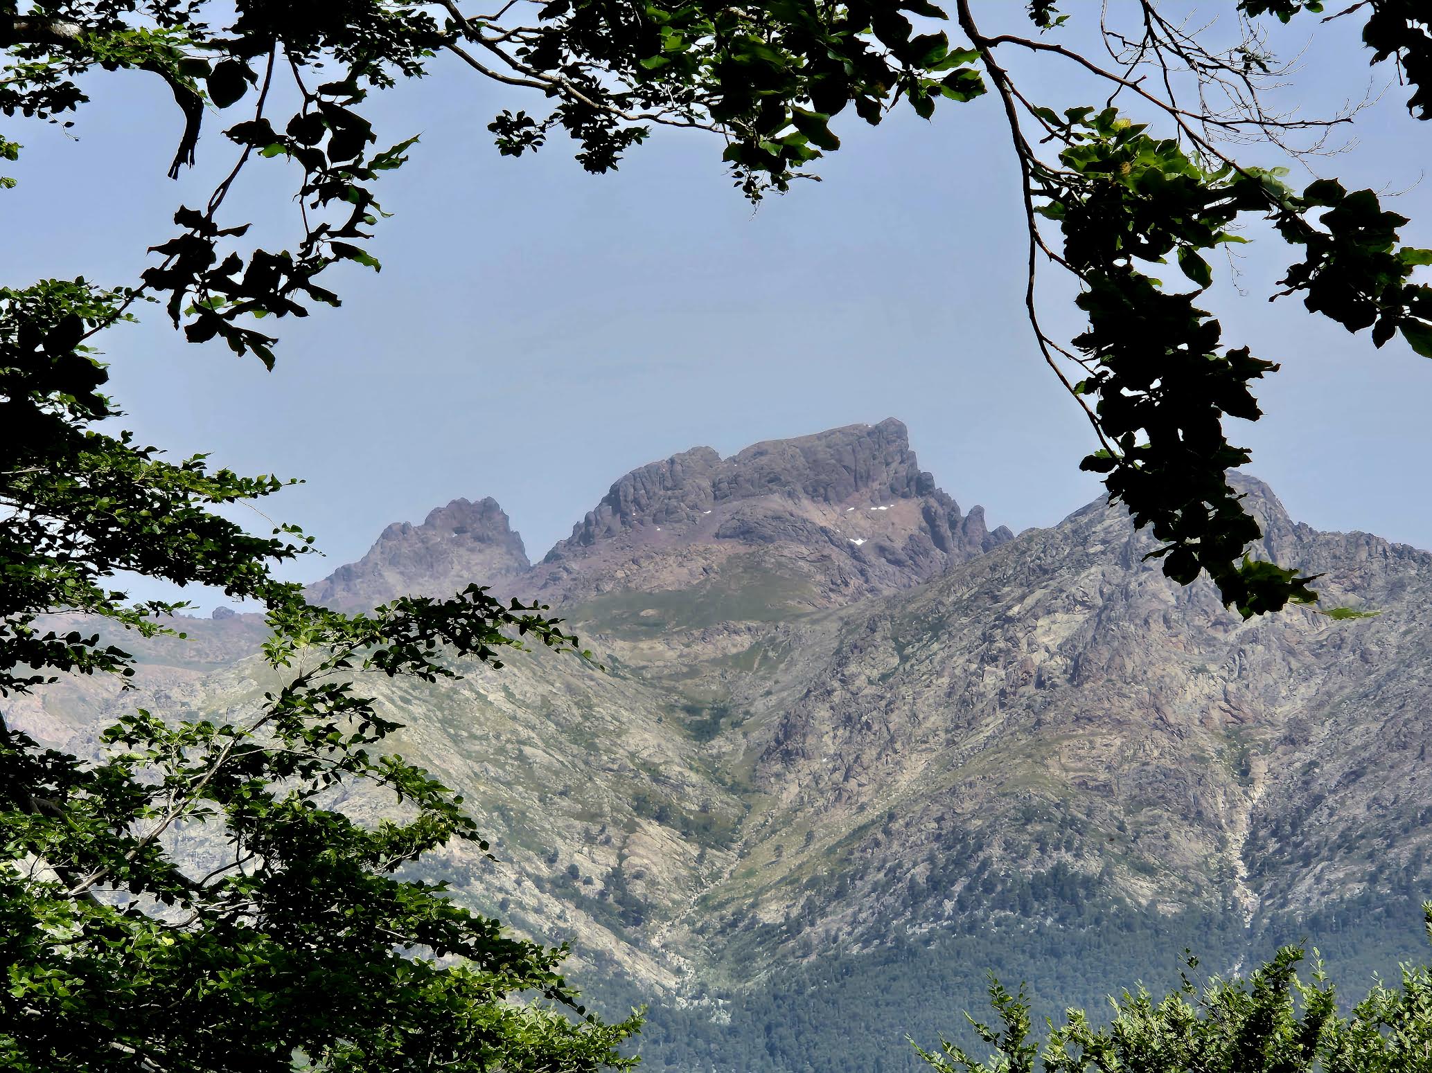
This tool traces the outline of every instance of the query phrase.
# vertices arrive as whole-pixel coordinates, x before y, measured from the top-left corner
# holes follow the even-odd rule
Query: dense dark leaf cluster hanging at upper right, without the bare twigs
[[[1432,340],[1432,288],[1411,275],[1432,255],[1398,245],[1406,219],[1383,212],[1372,190],[1320,180],[1297,195],[1277,170],[1209,166],[1114,109],[1045,109],[1041,119],[1063,149],[1060,166],[1032,172],[1034,209],[1058,223],[1058,259],[1083,283],[1088,326],[1073,342],[1088,375],[1077,391],[1094,399],[1106,441],[1083,468],[1107,474],[1111,498],[1163,541],[1151,557],[1174,581],[1207,572],[1244,617],[1313,602],[1312,577],[1249,554],[1262,532],[1227,471],[1250,456],[1223,421],[1256,421],[1252,383],[1279,366],[1224,346],[1197,305],[1213,282],[1207,255],[1242,242],[1244,217],[1269,219],[1306,249],[1285,295],[1302,293],[1349,330],[1370,326],[1378,346],[1400,330],[1419,353]],[[1170,259],[1196,290],[1150,273]]]

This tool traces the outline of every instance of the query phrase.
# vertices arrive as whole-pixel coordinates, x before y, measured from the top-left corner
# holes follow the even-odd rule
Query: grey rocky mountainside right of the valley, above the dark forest
[[[1169,584],[1103,504],[852,608],[753,765],[770,830],[819,817],[815,838],[768,850],[763,887],[735,898],[819,918],[806,880],[831,854],[862,877],[831,934],[949,921],[990,868],[1250,924],[1422,878],[1432,555],[1316,532],[1244,489],[1280,561],[1380,614],[1243,622],[1207,584]]]

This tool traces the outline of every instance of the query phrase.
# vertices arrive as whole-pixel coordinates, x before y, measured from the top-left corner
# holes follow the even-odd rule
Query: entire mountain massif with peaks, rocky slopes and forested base
[[[1423,956],[1432,555],[1240,488],[1254,555],[1378,614],[1244,622],[1103,501],[990,532],[895,421],[643,466],[536,565],[457,501],[312,591],[498,578],[597,652],[379,688],[394,748],[491,831],[497,861],[432,871],[570,940],[599,1004],[650,1001],[647,1066],[894,1070],[990,967],[1055,1014],[1174,983],[1186,946],[1227,971],[1310,937],[1350,991]],[[243,618],[192,624],[202,660],[147,651],[137,698],[20,717],[82,748],[122,704],[242,708]]]

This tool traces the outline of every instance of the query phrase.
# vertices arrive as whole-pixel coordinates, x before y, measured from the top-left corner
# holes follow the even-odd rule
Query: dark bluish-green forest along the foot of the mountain
[[[1035,1024],[1065,1011],[1113,1016],[1110,999],[1140,984],[1154,996],[1181,977],[1237,977],[1279,947],[1320,954],[1343,1009],[1376,981],[1395,983],[1402,964],[1432,963],[1421,898],[1425,887],[1362,896],[1305,920],[1189,913],[1161,917],[1127,903],[1060,906],[1060,918],[977,916],[951,933],[886,936],[859,951],[821,951],[779,967],[748,989],[713,991],[682,1006],[650,1003],[640,987],[601,973],[581,980],[609,1014],[650,1003],[642,1029],[643,1066],[716,1073],[911,1073],[924,1069],[911,1040],[941,1036],[982,1056],[965,1014],[985,1020],[990,974],[1025,986]],[[1041,906],[1042,908],[1042,906]],[[1190,967],[1189,959],[1196,964]]]

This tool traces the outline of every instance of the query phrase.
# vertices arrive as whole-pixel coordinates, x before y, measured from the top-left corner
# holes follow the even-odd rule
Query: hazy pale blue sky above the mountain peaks
[[[1015,24],[1024,4],[985,7]],[[1390,70],[1369,73],[1356,29],[1307,21],[1282,34],[1285,50],[1307,46],[1285,99],[1312,113],[1360,97],[1369,79],[1380,89]],[[1020,77],[1055,107],[1093,100],[1048,64]],[[95,90],[77,140],[6,126],[26,146],[7,169],[20,186],[3,195],[7,283],[135,280],[173,207],[200,203],[232,162],[211,117],[200,167],[168,182],[180,124],[168,89],[117,74]],[[1405,190],[1393,202],[1413,219],[1403,237],[1432,246],[1432,123],[1411,120],[1403,99],[1393,86],[1363,113],[1353,152],[1319,170]],[[495,496],[538,558],[633,466],[886,416],[991,525],[1053,524],[1097,494],[1077,469],[1088,428],[1022,316],[1018,183],[992,99],[931,123],[902,112],[868,129],[845,116],[825,180],[758,212],[730,189],[720,146],[699,136],[657,132],[607,176],[581,172],[560,139],[498,157],[485,124],[513,99],[447,64],[372,103],[382,137],[422,134],[381,185],[395,213],[372,243],[384,270],[345,269],[342,309],[279,323],[275,372],[185,345],[159,310],[103,339],[142,439],[306,478],[263,508],[328,554],[291,577],[326,574],[385,524],[460,495]],[[255,162],[235,220],[286,223],[284,167]],[[1260,389],[1267,416],[1236,429],[1254,448],[1252,472],[1296,518],[1432,548],[1432,362],[1400,340],[1375,351],[1366,332],[1296,302],[1269,305],[1289,252],[1272,240],[1242,252],[1244,293],[1221,286],[1210,308],[1227,342],[1285,363]],[[1077,328],[1074,310],[1051,309]]]

